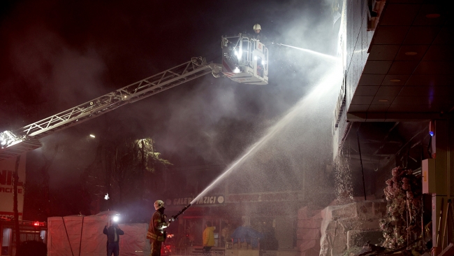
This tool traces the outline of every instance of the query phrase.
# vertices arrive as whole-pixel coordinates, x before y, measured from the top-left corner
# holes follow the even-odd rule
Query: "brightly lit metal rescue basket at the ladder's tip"
[[[268,85],[268,48],[247,34],[222,36],[222,73],[237,83]]]

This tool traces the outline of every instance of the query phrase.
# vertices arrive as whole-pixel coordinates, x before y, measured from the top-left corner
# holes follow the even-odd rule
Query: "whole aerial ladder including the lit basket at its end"
[[[216,78],[230,78],[237,83],[268,84],[268,49],[247,35],[222,36],[222,64],[207,63],[204,57],[193,57],[171,69],[156,73],[87,101],[66,111],[34,122],[14,131],[0,133],[0,161],[41,148],[39,138],[81,122],[91,120],[125,104],[163,92],[209,73]]]

